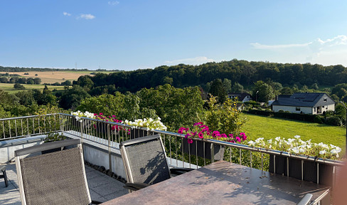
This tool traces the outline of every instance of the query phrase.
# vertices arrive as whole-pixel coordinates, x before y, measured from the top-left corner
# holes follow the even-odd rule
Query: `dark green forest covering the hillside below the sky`
[[[285,86],[326,85],[347,83],[347,68],[343,65],[268,63],[253,61],[223,61],[202,65],[162,65],[154,69],[98,73],[90,77],[94,87],[114,85],[119,91],[136,92],[142,88],[155,88],[170,84],[176,88],[201,86],[216,78],[226,78],[243,86],[253,85],[258,80],[273,81]]]

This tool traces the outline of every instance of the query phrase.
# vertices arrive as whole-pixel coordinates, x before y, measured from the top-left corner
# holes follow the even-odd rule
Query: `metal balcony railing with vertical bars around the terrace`
[[[146,135],[161,134],[165,144],[166,155],[169,164],[174,167],[197,167],[214,162],[217,158],[215,149],[223,149],[220,159],[225,161],[254,167],[265,171],[277,173],[275,169],[277,159],[284,157],[285,175],[290,176],[289,157],[301,162],[301,179],[304,179],[304,162],[313,162],[316,169],[316,183],[321,182],[320,164],[332,167],[333,180],[335,182],[336,169],[342,165],[341,161],[331,159],[317,159],[315,157],[293,156],[287,152],[249,147],[244,144],[235,144],[218,140],[194,139],[193,144],[187,144],[184,135],[176,132],[161,130],[147,130],[146,127],[132,127],[117,122],[106,122],[87,117],[76,120],[74,115],[63,113],[50,115],[33,115],[26,117],[12,117],[0,119],[1,137],[11,139],[14,137],[27,137],[31,135],[42,135],[52,132],[63,132],[67,135],[80,137],[82,140],[90,140],[107,147],[119,149],[119,143]],[[199,147],[197,144],[201,144]],[[186,145],[185,145],[186,144]],[[206,146],[207,144],[210,144]],[[196,153],[201,152],[201,157]],[[292,166],[292,165],[291,165]],[[269,170],[272,167],[272,170]],[[300,175],[300,174],[299,174]]]

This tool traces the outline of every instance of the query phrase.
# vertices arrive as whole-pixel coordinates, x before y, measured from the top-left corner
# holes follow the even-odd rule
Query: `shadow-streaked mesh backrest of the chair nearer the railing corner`
[[[124,141],[120,147],[127,182],[156,184],[170,178],[160,135]]]

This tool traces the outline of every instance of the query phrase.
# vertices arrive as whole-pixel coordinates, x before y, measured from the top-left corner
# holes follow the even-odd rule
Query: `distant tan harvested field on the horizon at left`
[[[77,80],[81,75],[91,75],[95,71],[74,71],[74,70],[63,70],[63,71],[28,71],[28,72],[7,72],[9,74],[18,74],[25,78],[41,78],[41,83],[62,83],[65,80]],[[6,72],[0,72],[6,73]],[[24,75],[29,73],[29,75]],[[102,71],[97,73],[112,73],[111,71]],[[37,75],[36,75],[37,74]]]

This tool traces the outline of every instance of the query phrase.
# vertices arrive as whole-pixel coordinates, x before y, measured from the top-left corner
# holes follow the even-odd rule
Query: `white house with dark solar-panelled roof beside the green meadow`
[[[319,115],[326,111],[335,110],[335,101],[326,93],[294,93],[293,95],[279,95],[272,102],[272,111],[289,111]]]

